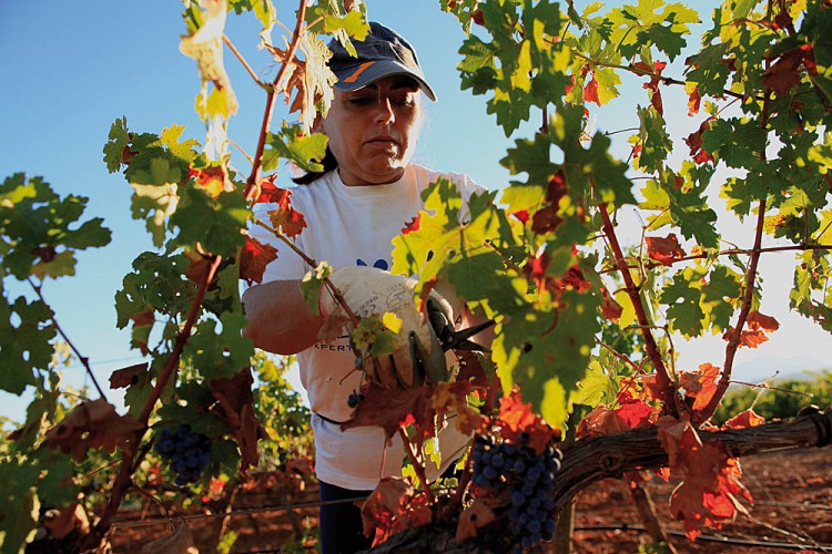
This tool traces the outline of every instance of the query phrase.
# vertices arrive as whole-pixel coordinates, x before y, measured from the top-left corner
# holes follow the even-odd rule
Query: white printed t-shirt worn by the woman
[[[327,260],[333,267],[366,265],[389,269],[393,238],[424,208],[422,192],[440,176],[457,185],[466,203],[473,193],[484,191],[466,175],[442,174],[414,164],[407,166],[399,181],[386,185],[346,186],[335,171],[310,185],[297,186],[292,189],[292,206],[304,215],[307,227],[295,244],[316,261]],[[267,222],[266,212],[272,209],[274,205],[261,204],[256,215]],[[461,209],[460,218],[466,214]],[[278,249],[277,259],[265,269],[263,283],[301,279],[311,269],[267,230],[254,226],[251,233]],[[347,400],[359,389],[362,375],[354,369],[355,355],[346,332],[329,343],[317,342],[300,352],[298,365],[312,411],[336,422],[347,421],[353,413]],[[319,480],[349,490],[371,490],[381,478],[400,474],[404,447],[395,437],[385,452],[381,427],[342,431],[338,424],[313,417],[312,428]],[[428,463],[430,480],[458,458],[468,437],[449,422],[438,433],[438,440],[443,464],[437,468]]]

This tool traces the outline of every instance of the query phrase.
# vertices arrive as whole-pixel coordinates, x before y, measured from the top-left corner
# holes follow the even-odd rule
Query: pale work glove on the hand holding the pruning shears
[[[426,378],[432,382],[448,380],[445,351],[437,338],[454,321],[447,300],[432,291],[423,315],[413,298],[415,279],[374,267],[339,267],[329,280],[356,316],[381,316],[389,311],[402,320],[393,353],[366,368],[373,379],[398,389],[420,387]],[[319,300],[325,316],[346,317],[326,287],[322,288]]]

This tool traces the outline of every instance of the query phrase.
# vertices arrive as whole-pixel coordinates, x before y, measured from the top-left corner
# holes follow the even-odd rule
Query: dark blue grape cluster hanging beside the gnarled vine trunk
[[[473,480],[479,488],[507,490],[511,507],[509,529],[516,544],[531,550],[540,541],[555,536],[555,473],[560,469],[561,454],[551,444],[542,454],[527,445],[495,443],[490,437],[479,435],[474,441]]]

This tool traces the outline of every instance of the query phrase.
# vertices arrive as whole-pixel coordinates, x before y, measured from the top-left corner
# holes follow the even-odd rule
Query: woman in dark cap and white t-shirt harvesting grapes
[[[465,175],[440,174],[410,163],[423,121],[422,93],[435,100],[413,47],[375,22],[367,38],[353,44],[357,58],[337,41],[329,45],[329,66],[338,81],[328,113],[315,123],[315,130],[328,137],[325,171],[298,178],[305,186],[294,188],[292,203],[307,222],[296,239],[300,248],[318,261],[329,261],[336,268],[334,276],[339,275],[337,268],[363,266],[348,271],[353,275],[348,279],[367,288],[389,268],[390,240],[424,207],[420,193],[432,182],[450,178],[466,201],[481,187]],[[253,234],[280,247],[266,233]],[[400,474],[404,450],[400,441],[385,450],[385,437],[377,427],[341,430],[339,423],[352,417],[349,396],[359,390],[363,373],[355,370],[355,353],[345,332],[334,341],[318,339],[323,317],[312,314],[300,293],[300,281],[310,268],[284,250],[267,266],[263,283],[243,296],[247,334],[258,348],[300,352],[301,380],[314,412],[315,469],[324,503],[322,550],[354,552],[369,546],[359,510],[351,502],[326,502],[367,496],[381,478]],[[455,322],[461,322],[460,318]],[[468,437],[447,425],[439,433],[443,466],[428,468],[428,478],[445,471],[467,442]]]

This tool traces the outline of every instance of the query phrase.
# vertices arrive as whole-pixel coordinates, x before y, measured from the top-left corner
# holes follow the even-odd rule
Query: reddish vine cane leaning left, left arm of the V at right
[[[673,413],[678,414],[679,394],[676,393],[676,383],[668,375],[667,367],[664,366],[664,360],[662,360],[661,353],[659,352],[659,347],[656,343],[656,338],[650,331],[650,321],[647,318],[645,306],[641,302],[639,287],[632,280],[632,275],[630,275],[630,268],[627,266],[627,261],[623,257],[623,252],[621,250],[621,246],[618,243],[616,229],[612,226],[612,220],[610,219],[609,213],[607,212],[607,204],[601,203],[598,205],[598,207],[601,214],[601,220],[603,222],[603,233],[607,236],[610,248],[612,249],[612,256],[615,257],[616,264],[618,265],[618,270],[621,273],[621,277],[623,278],[627,296],[630,297],[632,308],[636,311],[636,318],[638,319],[639,327],[641,329],[641,336],[645,339],[645,348],[647,350],[647,355],[649,356],[650,361],[652,361],[653,367],[656,368],[656,375],[658,377],[657,384],[663,391],[664,396],[662,400],[664,401],[666,407],[672,407],[671,409]]]

